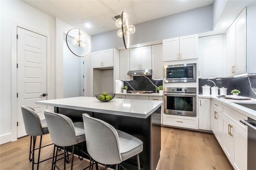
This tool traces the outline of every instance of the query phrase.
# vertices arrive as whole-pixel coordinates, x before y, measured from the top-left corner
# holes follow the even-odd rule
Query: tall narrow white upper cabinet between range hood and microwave
[[[152,79],[163,79],[163,44],[152,45]]]

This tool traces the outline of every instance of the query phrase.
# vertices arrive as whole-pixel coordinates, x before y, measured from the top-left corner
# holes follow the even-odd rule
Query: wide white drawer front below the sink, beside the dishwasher
[[[247,133],[247,126],[240,122],[240,119],[247,120],[247,116],[224,105],[222,114],[224,114],[231,122]]]

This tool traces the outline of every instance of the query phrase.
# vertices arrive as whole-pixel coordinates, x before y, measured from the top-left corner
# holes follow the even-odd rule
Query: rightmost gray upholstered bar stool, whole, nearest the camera
[[[128,133],[116,130],[110,124],[83,114],[87,150],[93,160],[108,165],[118,164],[137,155],[140,170],[139,153],[143,150],[143,142]],[[110,167],[110,166],[109,166]],[[125,169],[125,168],[124,168]]]

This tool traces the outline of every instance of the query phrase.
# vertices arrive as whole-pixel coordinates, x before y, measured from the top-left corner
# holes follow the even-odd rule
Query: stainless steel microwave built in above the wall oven
[[[196,82],[196,63],[165,65],[165,83]]]

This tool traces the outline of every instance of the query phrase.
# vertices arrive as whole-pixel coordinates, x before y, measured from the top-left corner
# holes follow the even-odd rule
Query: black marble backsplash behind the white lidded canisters
[[[256,76],[247,77],[232,77],[232,78],[211,78],[209,79],[215,82],[218,88],[225,87],[227,89],[227,95],[230,95],[231,90],[237,89],[241,93],[239,95],[245,97],[256,98]],[[199,78],[199,94],[202,93],[202,86],[215,86],[213,82],[207,78]],[[250,83],[251,82],[251,86]],[[254,93],[254,92],[255,93]]]

